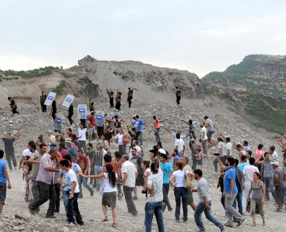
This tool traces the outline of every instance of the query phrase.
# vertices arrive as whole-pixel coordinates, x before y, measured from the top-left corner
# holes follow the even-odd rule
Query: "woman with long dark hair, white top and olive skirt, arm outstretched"
[[[101,205],[105,217],[102,221],[108,221],[107,207],[111,207],[113,219],[112,227],[116,227],[116,182],[119,182],[119,179],[117,173],[114,172],[111,164],[107,164],[105,167],[106,172],[103,172],[99,175],[86,176],[81,174],[81,176],[87,178],[104,178],[104,191],[102,195]]]

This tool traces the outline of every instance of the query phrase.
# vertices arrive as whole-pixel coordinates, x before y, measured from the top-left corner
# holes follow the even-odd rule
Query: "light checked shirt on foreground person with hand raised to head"
[[[160,202],[163,200],[163,172],[159,169],[158,173],[148,176],[147,184],[152,184],[152,191],[155,193],[154,197],[151,197],[149,192],[146,202]]]

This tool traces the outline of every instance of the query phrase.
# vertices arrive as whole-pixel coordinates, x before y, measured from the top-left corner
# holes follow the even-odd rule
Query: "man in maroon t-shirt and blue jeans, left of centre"
[[[77,159],[77,164],[80,166],[82,173],[84,175],[88,175],[89,170],[89,162],[85,155],[83,155],[82,150],[78,150],[79,158]],[[81,189],[81,183],[83,183],[83,186],[90,192],[90,196],[94,196],[94,190],[87,184],[87,178],[86,177],[79,177],[78,178],[79,183],[79,198],[83,198],[82,195],[82,189]]]

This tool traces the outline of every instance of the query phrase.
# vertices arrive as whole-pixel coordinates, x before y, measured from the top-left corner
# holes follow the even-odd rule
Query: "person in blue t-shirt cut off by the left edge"
[[[0,149],[0,215],[2,214],[3,205],[6,199],[6,189],[11,189],[12,185],[7,172],[7,165],[3,159],[4,151]],[[7,186],[8,182],[8,186]]]

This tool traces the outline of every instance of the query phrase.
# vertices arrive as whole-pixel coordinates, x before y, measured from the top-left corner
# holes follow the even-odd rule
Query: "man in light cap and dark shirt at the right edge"
[[[276,212],[282,212],[284,179],[286,179],[286,175],[282,168],[279,167],[278,161],[271,162],[271,165],[274,169],[273,186],[275,187],[275,202],[278,204]]]

